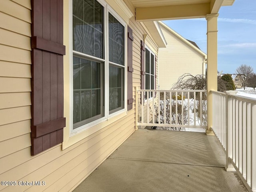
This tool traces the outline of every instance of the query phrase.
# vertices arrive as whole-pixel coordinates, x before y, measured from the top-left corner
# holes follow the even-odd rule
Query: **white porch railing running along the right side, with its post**
[[[226,170],[236,170],[256,192],[256,99],[212,92],[213,131],[226,150]]]

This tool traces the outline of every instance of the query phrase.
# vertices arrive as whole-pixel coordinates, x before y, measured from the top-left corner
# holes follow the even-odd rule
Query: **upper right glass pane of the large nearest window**
[[[124,65],[124,26],[108,14],[109,61]]]

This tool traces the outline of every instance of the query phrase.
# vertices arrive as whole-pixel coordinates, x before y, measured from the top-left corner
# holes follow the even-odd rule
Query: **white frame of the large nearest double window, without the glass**
[[[70,16],[69,16],[69,43],[70,43],[70,48],[69,48],[69,53],[70,53],[70,65],[69,65],[69,73],[70,73],[70,79],[69,79],[69,83],[70,83],[70,137],[74,136],[84,130],[88,130],[90,128],[92,128],[93,126],[96,126],[97,124],[100,124],[102,122],[105,122],[106,120],[110,119],[110,118],[114,118],[115,116],[118,116],[119,114],[126,112],[127,113],[127,30],[128,30],[128,25],[126,24],[126,22],[111,8],[111,6],[109,6],[104,0],[97,0],[104,8],[104,59],[101,58],[96,58],[94,56],[90,56],[84,53],[80,53],[77,51],[73,50],[73,38],[72,38],[72,33],[73,33],[73,1],[70,0]],[[109,58],[109,53],[108,53],[108,49],[109,49],[109,33],[108,33],[108,13],[112,14],[123,26],[124,26],[124,66],[119,65],[119,64],[115,64],[113,62],[109,62],[108,58]],[[89,59],[89,60],[98,60],[99,62],[103,62],[104,64],[104,80],[103,80],[103,84],[104,84],[104,103],[105,103],[105,108],[104,108],[104,116],[102,118],[96,119],[92,122],[89,122],[87,124],[84,124],[78,128],[73,129],[73,56],[74,54],[82,56],[84,59]],[[118,66],[121,68],[124,68],[124,108],[120,109],[116,112],[113,112],[111,114],[109,114],[109,65],[113,65],[113,66]],[[103,99],[102,99],[103,101]],[[103,127],[102,127],[103,128]],[[101,128],[97,128],[97,130],[100,130]]]

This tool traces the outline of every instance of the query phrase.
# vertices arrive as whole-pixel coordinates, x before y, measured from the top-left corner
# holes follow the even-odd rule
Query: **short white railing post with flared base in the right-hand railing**
[[[230,159],[232,159],[232,98],[229,95],[236,94],[237,91],[225,91],[226,93],[226,165],[225,169],[228,172],[236,172],[236,169],[232,165]]]

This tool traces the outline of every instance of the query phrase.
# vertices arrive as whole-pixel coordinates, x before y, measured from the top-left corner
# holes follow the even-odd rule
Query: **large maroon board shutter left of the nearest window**
[[[63,0],[32,0],[31,155],[63,141]]]

